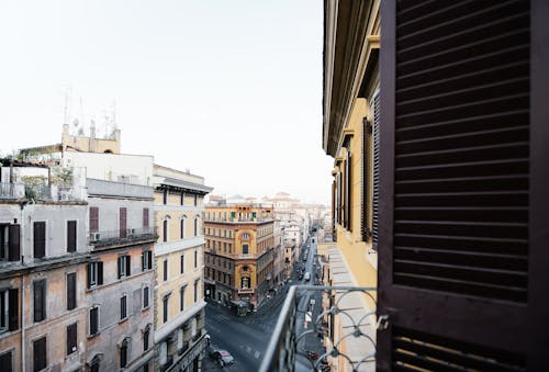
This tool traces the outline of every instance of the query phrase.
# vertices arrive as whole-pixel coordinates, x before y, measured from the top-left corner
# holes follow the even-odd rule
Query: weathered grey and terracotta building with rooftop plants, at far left
[[[88,324],[82,188],[59,184],[44,165],[0,162],[0,370],[79,370]]]

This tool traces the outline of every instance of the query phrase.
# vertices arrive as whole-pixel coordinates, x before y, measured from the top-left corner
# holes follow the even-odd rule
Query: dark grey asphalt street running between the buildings
[[[315,239],[316,240],[316,239]],[[313,260],[315,257],[316,245],[307,241],[309,255],[304,262],[300,257],[301,264],[305,266],[305,271],[311,272],[311,281],[305,282],[296,279],[296,271],[292,278],[277,295],[267,300],[267,303],[258,308],[256,313],[248,316],[237,317],[225,306],[210,301],[205,308],[205,328],[211,336],[211,343],[220,349],[227,350],[235,359],[235,363],[225,367],[226,371],[256,372],[261,364],[265,350],[269,343],[272,330],[280,315],[285,294],[290,284],[313,284],[315,282],[315,267]],[[300,335],[304,330],[304,316],[310,304],[310,300],[315,298],[315,308],[313,309],[313,319],[318,315],[321,307],[321,293],[306,292],[300,298],[296,332]],[[322,352],[322,345],[317,336],[307,335],[298,346],[299,350],[315,350]],[[208,357],[203,361],[203,370],[221,370]],[[309,361],[298,356],[296,371],[311,371]]]

